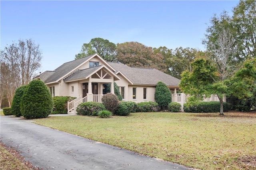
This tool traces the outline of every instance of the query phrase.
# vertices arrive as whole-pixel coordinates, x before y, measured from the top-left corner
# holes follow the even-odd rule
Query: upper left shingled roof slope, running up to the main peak
[[[74,60],[74,61],[70,61],[70,62],[62,64],[61,66],[59,66],[58,68],[56,68],[54,70],[54,73],[52,75],[50,75],[44,81],[44,83],[56,82],[57,80],[59,80],[60,78],[62,78],[66,74],[68,74],[68,72],[70,72],[71,70],[73,70],[74,68],[79,66],[81,63],[83,63],[84,61],[88,60],[93,55],[89,55],[89,56],[84,57],[82,59],[78,59],[78,60]]]

